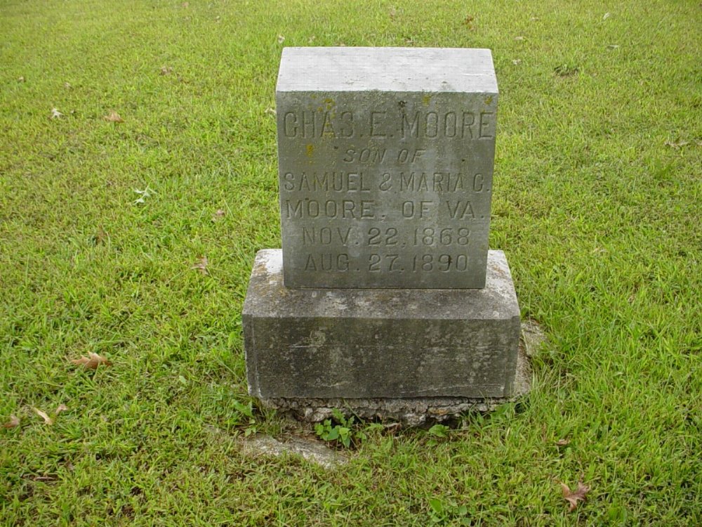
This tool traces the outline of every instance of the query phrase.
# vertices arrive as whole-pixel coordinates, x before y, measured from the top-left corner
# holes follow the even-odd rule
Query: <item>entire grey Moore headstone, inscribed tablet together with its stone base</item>
[[[252,395],[381,417],[517,395],[519,306],[488,250],[497,95],[489,50],[284,50],[283,247],[257,254],[244,303]]]

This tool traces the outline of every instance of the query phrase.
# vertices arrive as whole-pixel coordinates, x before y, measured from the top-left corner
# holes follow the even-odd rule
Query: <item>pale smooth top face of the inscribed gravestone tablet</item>
[[[489,49],[284,48],[277,91],[497,93]]]

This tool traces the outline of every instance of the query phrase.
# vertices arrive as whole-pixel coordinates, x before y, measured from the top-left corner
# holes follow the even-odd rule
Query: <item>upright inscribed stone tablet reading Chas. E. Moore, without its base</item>
[[[486,49],[285,48],[287,287],[484,287],[498,89]]]

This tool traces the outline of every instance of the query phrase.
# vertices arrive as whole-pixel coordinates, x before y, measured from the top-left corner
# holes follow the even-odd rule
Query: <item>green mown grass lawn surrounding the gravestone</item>
[[[1,2],[0,524],[702,523],[701,20],[697,1]],[[281,49],[342,44],[492,49],[490,247],[548,341],[519,402],[354,424],[328,469],[246,455],[316,435],[247,396],[240,313],[256,250],[280,247]]]

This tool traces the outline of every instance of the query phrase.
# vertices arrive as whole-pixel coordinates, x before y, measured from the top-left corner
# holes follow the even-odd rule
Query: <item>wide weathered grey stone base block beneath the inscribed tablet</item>
[[[249,393],[501,398],[515,393],[519,307],[502,252],[484,289],[288,289],[258,252],[244,302]]]

